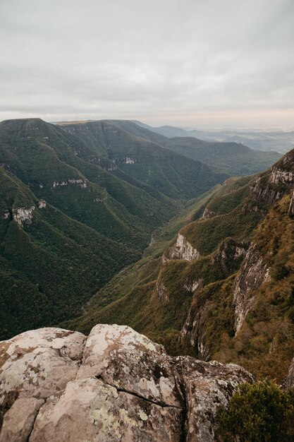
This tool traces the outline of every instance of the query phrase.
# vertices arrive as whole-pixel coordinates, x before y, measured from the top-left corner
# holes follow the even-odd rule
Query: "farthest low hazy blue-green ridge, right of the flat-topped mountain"
[[[163,145],[231,175],[255,174],[274,164],[281,154],[251,150],[240,143],[202,141],[192,137],[169,138]]]

